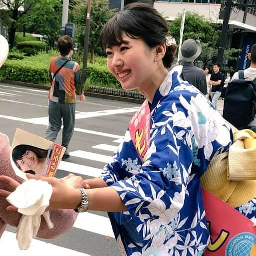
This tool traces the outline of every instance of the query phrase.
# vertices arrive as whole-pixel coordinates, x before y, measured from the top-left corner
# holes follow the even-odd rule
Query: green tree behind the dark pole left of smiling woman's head
[[[76,39],[79,46],[84,46],[84,31],[87,15],[87,0],[74,0],[72,16],[76,23]],[[99,35],[103,25],[113,16],[115,10],[109,9],[109,0],[93,0],[91,8],[89,52],[90,62],[94,61],[96,48],[100,47]]]

